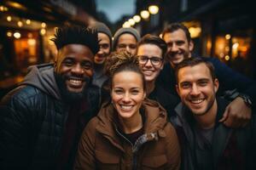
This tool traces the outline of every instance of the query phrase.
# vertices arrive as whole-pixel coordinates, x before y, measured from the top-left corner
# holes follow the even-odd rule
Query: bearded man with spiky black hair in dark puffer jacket
[[[0,104],[0,169],[72,169],[99,103],[91,85],[96,31],[59,28],[55,64],[34,65]]]

